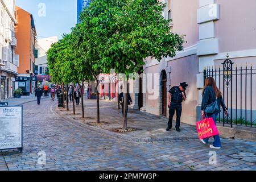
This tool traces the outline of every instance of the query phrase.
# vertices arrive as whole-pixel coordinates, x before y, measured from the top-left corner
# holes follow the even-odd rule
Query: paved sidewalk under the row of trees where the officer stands
[[[69,103],[69,111],[62,107],[55,110],[59,115],[68,118],[72,122],[84,124],[86,127],[100,131],[105,131],[113,135],[126,136],[129,140],[137,142],[152,142],[164,140],[193,140],[198,139],[195,126],[181,123],[181,132],[175,130],[175,122],[171,131],[166,131],[168,119],[157,115],[143,113],[138,110],[128,111],[127,127],[137,129],[135,131],[117,134],[113,129],[122,127],[122,110],[118,110],[115,102],[100,101],[100,124],[96,123],[96,100],[85,100],[85,119],[81,118],[81,105],[76,107],[76,115],[73,115],[72,103]]]

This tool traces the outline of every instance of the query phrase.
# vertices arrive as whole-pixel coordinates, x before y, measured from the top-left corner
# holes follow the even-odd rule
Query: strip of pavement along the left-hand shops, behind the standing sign
[[[49,98],[49,97],[42,97],[41,99]],[[30,96],[22,96],[20,98],[9,98],[7,100],[2,100],[1,102],[8,102],[9,106],[17,106],[17,105],[23,105],[27,102],[36,101],[35,94],[32,93]]]

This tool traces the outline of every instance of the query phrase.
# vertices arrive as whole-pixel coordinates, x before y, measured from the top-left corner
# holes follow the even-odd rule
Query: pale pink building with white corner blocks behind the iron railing
[[[256,97],[250,97],[250,95],[253,95],[256,90],[256,76],[254,73],[249,74],[249,68],[252,66],[251,72],[253,72],[256,63],[256,21],[254,20],[256,2],[253,0],[243,2],[239,0],[163,0],[162,2],[167,3],[166,10],[163,12],[164,18],[172,19],[171,31],[186,35],[186,43],[183,45],[184,50],[177,52],[175,57],[165,57],[160,63],[151,58],[145,60],[144,75],[139,76],[139,81],[131,81],[131,84],[134,89],[143,90],[144,88],[146,91],[137,90],[137,93],[131,94],[134,100],[132,107],[168,117],[168,90],[186,81],[189,86],[186,90],[187,101],[183,102],[181,121],[195,125],[201,117],[204,69],[210,68],[210,74],[217,73],[212,75],[224,94],[224,101],[230,114],[240,118],[246,117],[247,114],[247,119],[251,115],[252,121],[255,122],[256,107],[252,103],[256,103]],[[232,13],[235,9],[236,12]],[[233,62],[233,71],[224,72],[223,69],[226,68],[223,63],[227,53],[228,58]],[[239,70],[241,68],[241,75],[234,75],[235,67]],[[233,75],[230,76],[232,72]],[[146,78],[148,74],[152,74],[153,77],[155,75],[157,78],[152,78],[153,81],[151,81]],[[208,74],[208,76],[212,75]],[[229,81],[230,78],[233,79],[233,88],[232,84],[226,82],[228,77]],[[237,80],[236,86],[235,80]],[[151,90],[146,86],[149,82],[153,82],[156,97],[154,97],[155,93],[150,92]]]

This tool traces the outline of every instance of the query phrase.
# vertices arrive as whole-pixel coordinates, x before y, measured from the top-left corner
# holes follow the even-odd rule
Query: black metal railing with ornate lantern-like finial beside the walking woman
[[[223,94],[223,100],[229,109],[229,115],[222,111],[218,115],[218,122],[223,126],[241,125],[256,127],[256,68],[238,67],[230,59],[218,67],[204,69],[204,80],[213,77]],[[254,104],[254,105],[253,105]]]

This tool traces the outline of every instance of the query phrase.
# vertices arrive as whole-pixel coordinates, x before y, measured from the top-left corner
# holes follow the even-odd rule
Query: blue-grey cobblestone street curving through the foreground
[[[39,106],[24,104],[23,153],[2,151],[0,170],[256,170],[256,142],[222,139],[217,164],[210,165],[212,150],[198,139],[175,134],[173,140],[136,142],[75,122],[64,111],[57,114],[56,104],[49,100]],[[39,151],[46,152],[45,165],[38,163]]]

